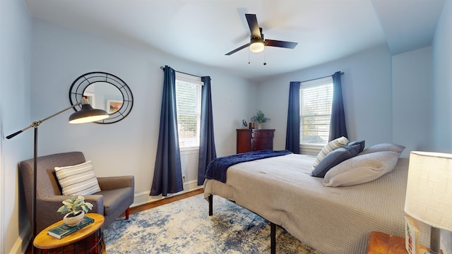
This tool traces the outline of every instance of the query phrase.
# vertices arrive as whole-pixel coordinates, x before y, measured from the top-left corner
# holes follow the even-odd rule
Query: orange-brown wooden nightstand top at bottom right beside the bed
[[[425,246],[419,246],[417,254],[424,254],[427,251]],[[407,254],[405,248],[405,238],[391,236],[378,231],[372,231],[367,244],[367,254]]]

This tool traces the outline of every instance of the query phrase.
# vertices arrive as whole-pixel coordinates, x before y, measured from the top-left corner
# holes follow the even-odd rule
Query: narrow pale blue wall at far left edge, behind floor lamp
[[[32,20],[24,2],[1,0],[0,24],[0,253],[20,253],[30,225],[17,164],[32,157],[33,129],[5,137],[31,124]]]

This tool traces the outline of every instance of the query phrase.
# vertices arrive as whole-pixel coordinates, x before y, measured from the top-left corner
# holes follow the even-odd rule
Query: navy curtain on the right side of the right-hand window
[[[345,126],[344,102],[342,99],[342,85],[340,83],[340,71],[333,74],[333,106],[331,107],[330,136],[329,141],[344,136],[348,138]]]

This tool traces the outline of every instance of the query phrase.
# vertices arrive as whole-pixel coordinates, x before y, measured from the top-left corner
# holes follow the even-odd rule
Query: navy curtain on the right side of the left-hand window
[[[215,138],[213,137],[212,97],[210,93],[210,77],[202,77],[201,95],[201,133],[198,157],[198,186],[203,185],[207,165],[217,157]]]

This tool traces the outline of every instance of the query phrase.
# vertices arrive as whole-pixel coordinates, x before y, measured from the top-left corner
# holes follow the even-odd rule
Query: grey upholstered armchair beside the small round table
[[[72,166],[83,162],[85,162],[85,156],[82,152],[64,152],[37,157],[37,232],[63,219],[57,210],[62,205],[61,201],[71,198],[71,196],[62,195],[54,168]],[[20,162],[19,170],[25,191],[28,217],[31,222],[33,159]],[[102,214],[105,217],[102,229],[107,228],[124,212],[126,219],[129,219],[129,206],[133,203],[135,187],[133,176],[97,177],[97,181],[101,191],[84,197],[85,201],[93,204],[93,210],[90,212]]]

